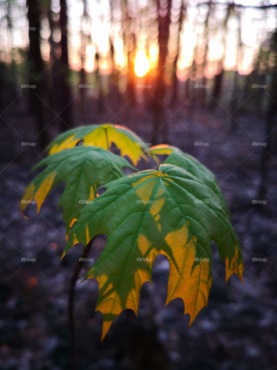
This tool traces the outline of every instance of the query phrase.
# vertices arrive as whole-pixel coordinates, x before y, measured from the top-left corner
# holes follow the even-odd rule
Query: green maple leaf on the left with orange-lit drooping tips
[[[43,159],[32,171],[47,166],[37,175],[20,202],[24,211],[35,199],[37,212],[48,193],[61,181],[65,181],[65,190],[59,205],[63,208],[63,219],[68,234],[72,224],[78,219],[79,211],[88,202],[96,198],[100,185],[124,176],[122,167],[131,166],[126,159],[97,147],[76,147],[67,149]]]

